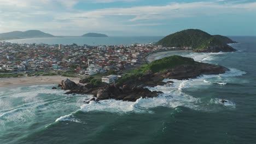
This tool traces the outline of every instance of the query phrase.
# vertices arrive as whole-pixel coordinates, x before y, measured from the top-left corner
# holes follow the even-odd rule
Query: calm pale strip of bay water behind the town
[[[164,37],[107,37],[107,38],[89,38],[89,37],[64,37],[64,38],[36,38],[36,39],[16,39],[8,40],[11,43],[27,43],[27,44],[63,44],[71,45],[73,43],[78,45],[130,45],[130,44],[147,44],[159,41]]]

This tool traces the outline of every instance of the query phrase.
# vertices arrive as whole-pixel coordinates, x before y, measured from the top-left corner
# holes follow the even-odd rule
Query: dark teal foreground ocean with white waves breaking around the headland
[[[0,143],[256,143],[256,37],[230,38],[238,51],[176,53],[230,71],[148,87],[157,98],[83,104],[91,95],[53,85],[1,88]]]

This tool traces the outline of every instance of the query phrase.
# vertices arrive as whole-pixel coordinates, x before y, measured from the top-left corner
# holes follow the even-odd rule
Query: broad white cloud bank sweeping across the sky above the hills
[[[180,17],[218,16],[255,13],[254,3],[211,2],[170,3],[162,6],[76,10],[79,2],[111,3],[135,0],[0,0],[0,32],[57,29],[69,31],[142,31],[142,26],[166,25],[166,20]]]

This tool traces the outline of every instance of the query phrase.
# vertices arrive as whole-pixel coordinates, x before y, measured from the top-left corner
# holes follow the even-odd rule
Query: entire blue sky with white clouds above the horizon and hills
[[[256,0],[0,0],[0,33],[164,36],[189,28],[256,35]]]

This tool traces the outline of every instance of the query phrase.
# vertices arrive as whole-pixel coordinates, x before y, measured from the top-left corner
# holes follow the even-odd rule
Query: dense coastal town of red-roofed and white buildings
[[[190,47],[161,45],[79,46],[48,44],[15,44],[0,42],[0,73],[36,75],[58,74],[86,77],[96,74],[121,74],[147,63],[150,53],[167,50],[190,50]],[[103,81],[102,81],[103,82]]]

